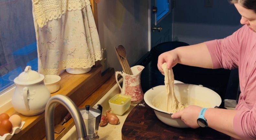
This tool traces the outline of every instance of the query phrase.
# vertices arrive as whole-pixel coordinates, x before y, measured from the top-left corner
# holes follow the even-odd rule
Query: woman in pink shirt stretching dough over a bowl
[[[230,135],[232,140],[256,139],[256,0],[229,0],[235,5],[244,24],[233,35],[218,40],[178,47],[162,53],[158,58],[158,69],[162,64],[171,69],[177,63],[203,68],[239,68],[240,96],[235,110],[208,108],[191,105],[174,113],[172,118],[181,118],[192,128],[199,127],[199,113],[207,124],[219,132]],[[199,117],[200,118],[200,117]]]

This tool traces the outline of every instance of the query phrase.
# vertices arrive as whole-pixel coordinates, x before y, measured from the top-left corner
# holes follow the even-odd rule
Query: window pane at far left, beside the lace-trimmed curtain
[[[0,0],[0,107],[26,66],[38,69],[32,1]]]

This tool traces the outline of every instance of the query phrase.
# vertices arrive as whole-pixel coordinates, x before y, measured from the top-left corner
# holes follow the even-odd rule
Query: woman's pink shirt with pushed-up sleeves
[[[213,68],[239,68],[241,93],[234,130],[243,140],[256,140],[256,33],[245,25],[227,38],[206,42],[206,46]]]

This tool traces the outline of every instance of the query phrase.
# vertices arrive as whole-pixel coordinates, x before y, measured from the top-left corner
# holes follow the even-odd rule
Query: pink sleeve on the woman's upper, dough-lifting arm
[[[238,68],[239,39],[242,37],[244,27],[223,39],[207,41],[206,46],[210,52],[213,68]],[[238,39],[239,38],[239,39]]]

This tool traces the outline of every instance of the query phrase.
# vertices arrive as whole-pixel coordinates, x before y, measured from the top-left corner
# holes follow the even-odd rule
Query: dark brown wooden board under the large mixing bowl
[[[212,128],[176,128],[162,123],[142,100],[128,114],[122,140],[229,140],[230,136]]]

